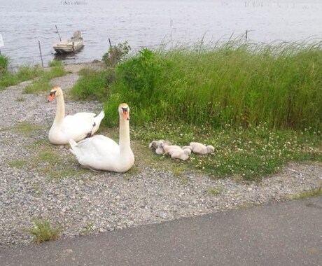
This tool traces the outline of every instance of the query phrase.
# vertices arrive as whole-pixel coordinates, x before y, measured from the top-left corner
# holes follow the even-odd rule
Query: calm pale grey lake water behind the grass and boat
[[[215,43],[248,30],[269,43],[322,38],[321,0],[0,0],[0,34],[11,65],[55,58],[52,45],[79,29],[85,47],[68,62],[102,59],[112,44],[141,47]]]

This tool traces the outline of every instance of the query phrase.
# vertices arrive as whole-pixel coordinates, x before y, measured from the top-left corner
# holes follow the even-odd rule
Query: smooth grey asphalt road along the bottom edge
[[[0,265],[322,265],[322,196],[0,249]]]

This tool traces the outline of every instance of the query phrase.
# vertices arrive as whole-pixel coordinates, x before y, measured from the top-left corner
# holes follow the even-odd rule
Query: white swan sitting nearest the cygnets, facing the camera
[[[76,155],[80,165],[93,171],[104,170],[127,172],[134,165],[134,155],[130,146],[130,108],[127,104],[118,106],[120,114],[120,143],[102,135],[95,135],[76,143],[69,140],[71,153]]]

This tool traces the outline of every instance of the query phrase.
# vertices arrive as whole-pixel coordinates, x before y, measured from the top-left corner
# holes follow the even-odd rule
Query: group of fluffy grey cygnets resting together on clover
[[[169,141],[160,139],[158,141],[151,141],[149,148],[155,150],[158,155],[169,154],[172,159],[187,160],[190,154],[206,155],[215,151],[214,146],[204,145],[199,142],[190,142],[189,146],[172,145]]]

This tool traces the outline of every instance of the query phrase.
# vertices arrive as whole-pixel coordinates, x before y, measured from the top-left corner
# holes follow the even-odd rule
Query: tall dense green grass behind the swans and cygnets
[[[120,102],[135,123],[156,119],[211,127],[265,123],[321,129],[321,43],[228,42],[215,48],[142,49],[116,67],[106,120]],[[110,116],[110,117],[109,117]]]

